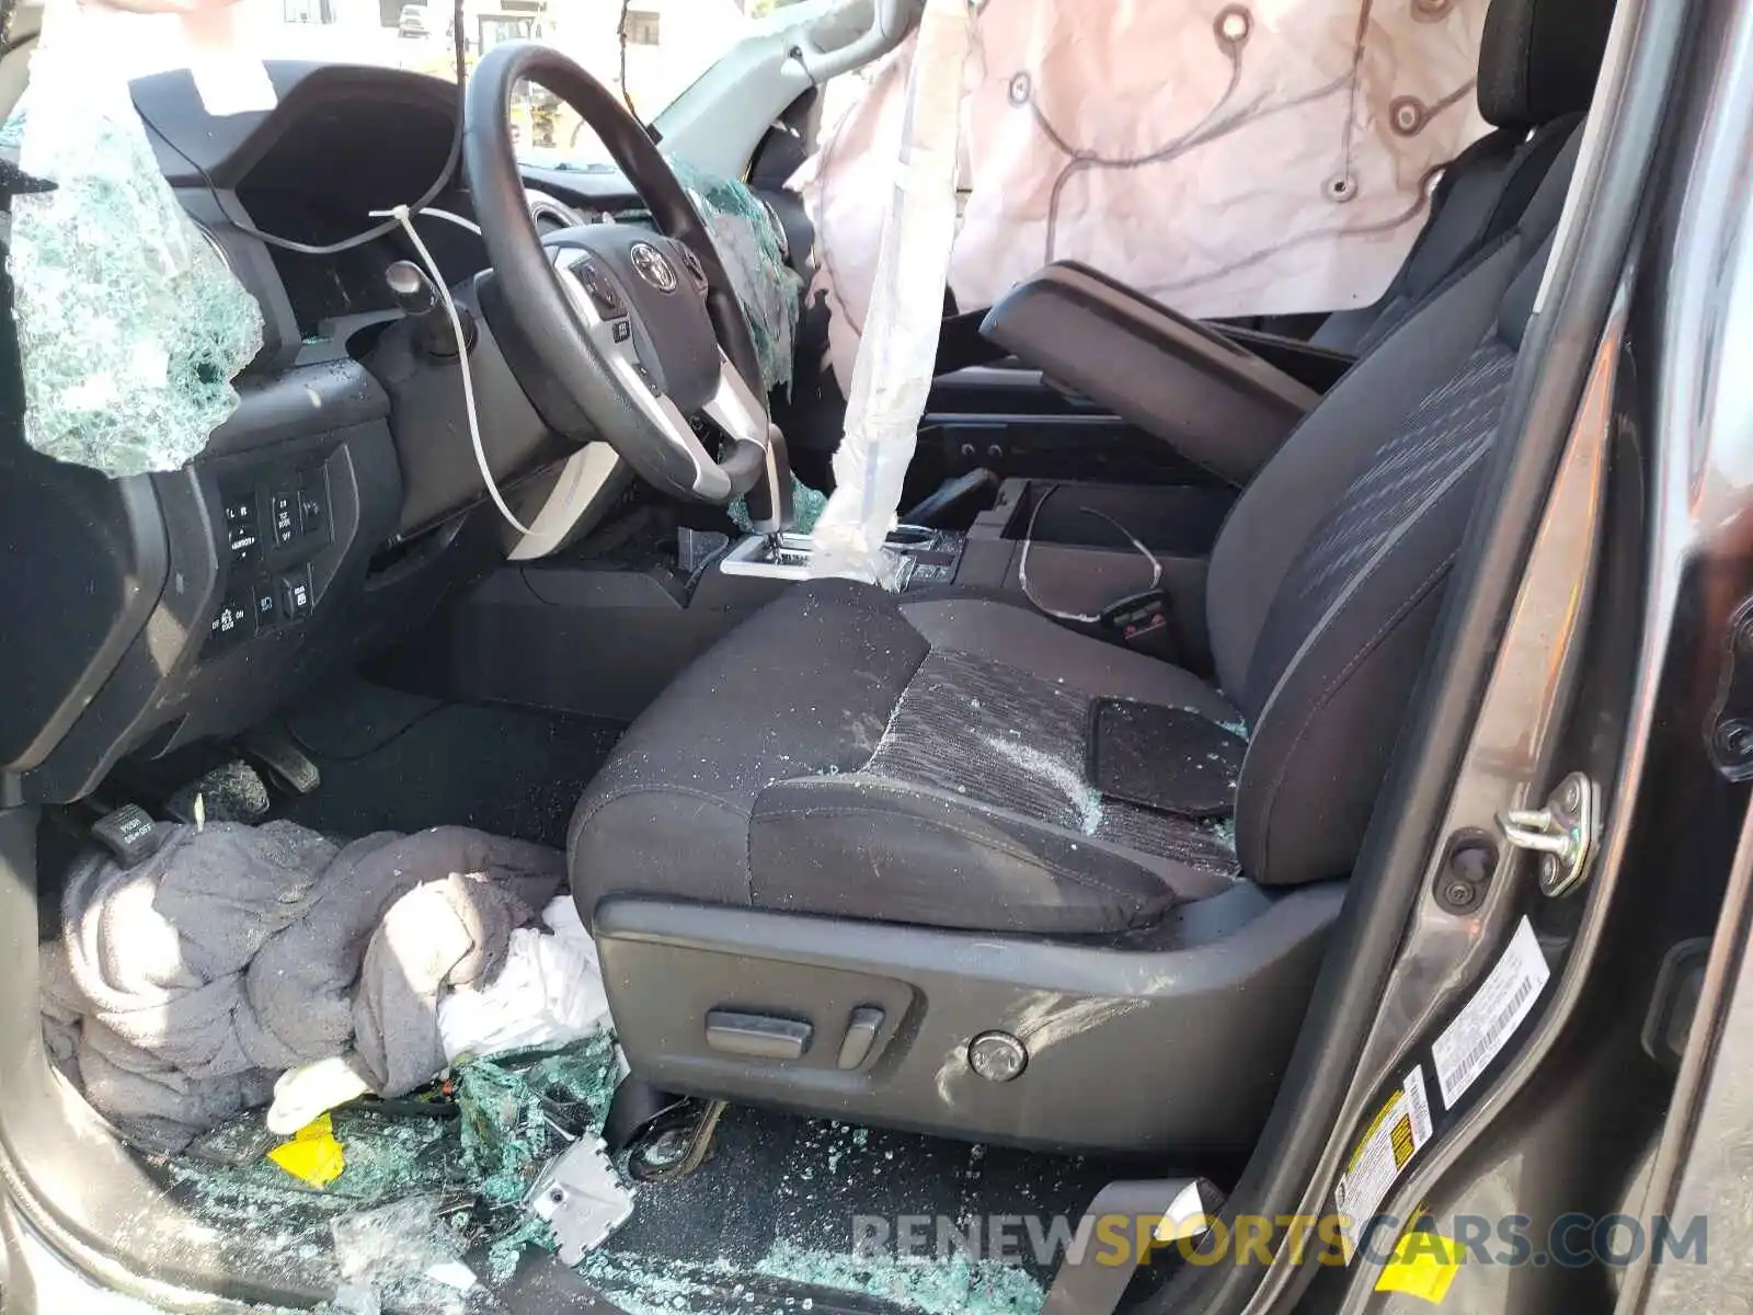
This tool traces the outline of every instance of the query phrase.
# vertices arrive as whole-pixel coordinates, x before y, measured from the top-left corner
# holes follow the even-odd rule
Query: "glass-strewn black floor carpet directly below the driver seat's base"
[[[682,1182],[642,1185],[633,1219],[578,1273],[629,1311],[798,1310],[770,1304],[761,1280],[784,1280],[913,1311],[1034,1315],[1057,1255],[1050,1245],[1034,1254],[1022,1217],[1075,1229],[1096,1192],[1125,1175],[1090,1159],[733,1106],[712,1159]],[[990,1259],[987,1231],[1004,1217],[1010,1264]],[[899,1229],[915,1231],[917,1247],[899,1247]]]

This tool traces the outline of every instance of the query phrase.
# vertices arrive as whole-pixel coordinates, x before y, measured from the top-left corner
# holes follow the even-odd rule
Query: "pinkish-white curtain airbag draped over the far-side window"
[[[1485,132],[1487,0],[1003,0],[980,9],[962,103],[950,291],[985,307],[1080,259],[1189,316],[1373,303],[1434,174]],[[912,44],[794,179],[817,231],[831,359],[875,323],[884,170]],[[843,84],[843,86],[841,86]],[[859,93],[859,88],[864,88]]]

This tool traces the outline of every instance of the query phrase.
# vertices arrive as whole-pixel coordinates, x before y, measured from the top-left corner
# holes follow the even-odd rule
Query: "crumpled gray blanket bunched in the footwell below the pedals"
[[[465,828],[337,849],[291,822],[161,826],[70,873],[42,957],[51,1056],[142,1145],[181,1150],[352,1048],[382,1096],[444,1068],[438,998],[489,984],[564,857]]]

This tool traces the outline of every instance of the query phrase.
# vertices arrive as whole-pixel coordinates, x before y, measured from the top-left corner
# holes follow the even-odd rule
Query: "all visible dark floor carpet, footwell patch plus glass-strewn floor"
[[[470,824],[559,845],[622,728],[349,682],[300,708],[287,729],[323,770],[319,791],[282,807],[296,822],[340,835]],[[591,1054],[557,1092],[591,1108],[587,1129],[601,1127],[612,1091],[603,1052]],[[154,1162],[167,1199],[210,1226],[237,1273],[284,1257],[323,1273],[337,1217],[417,1194],[438,1199],[458,1229],[456,1250],[494,1289],[542,1273],[526,1236],[507,1224],[519,1212],[498,1210],[484,1231],[459,1120],[347,1108],[333,1127],[347,1168],[321,1191],[259,1159],[259,1148],[242,1168]],[[538,1159],[556,1150],[543,1145]],[[1075,1229],[1117,1176],[1146,1171],[736,1106],[694,1175],[635,1187],[631,1220],[577,1273],[629,1315],[1036,1315],[1059,1252],[1031,1234]],[[982,1231],[996,1217],[1011,1219],[1008,1262],[980,1259],[992,1248]],[[1020,1229],[1018,1217],[1034,1227]],[[869,1245],[873,1227],[908,1220],[924,1227],[922,1243]],[[955,1236],[971,1236],[980,1255],[959,1254]],[[472,1315],[484,1296],[415,1275],[386,1292],[384,1308]]]

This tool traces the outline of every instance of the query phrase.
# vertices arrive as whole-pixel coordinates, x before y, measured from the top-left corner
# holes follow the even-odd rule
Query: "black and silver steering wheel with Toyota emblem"
[[[531,79],[596,130],[659,233],[587,224],[536,233],[512,149],[512,88]],[[570,407],[664,493],[727,503],[773,461],[761,370],[742,303],[705,223],[645,128],[621,100],[559,51],[528,40],[494,46],[463,107],[463,165],[493,259],[493,298],[543,379],[524,379]],[[498,331],[498,330],[496,330]],[[727,437],[706,452],[691,417]],[[777,475],[773,477],[777,484]]]

